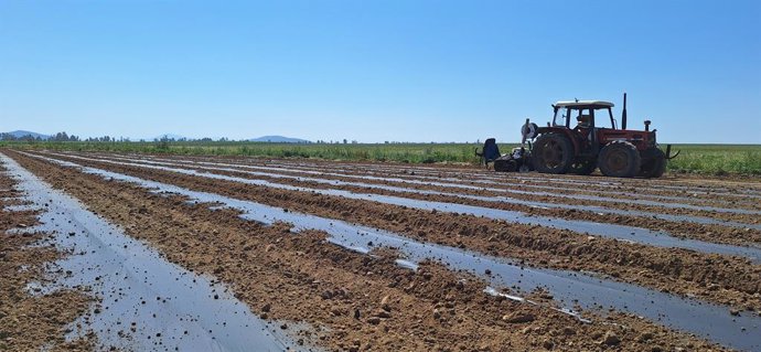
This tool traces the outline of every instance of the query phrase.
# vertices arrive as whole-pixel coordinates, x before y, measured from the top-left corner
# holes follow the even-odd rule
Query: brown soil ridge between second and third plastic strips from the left
[[[320,216],[357,221],[412,238],[528,260],[535,266],[604,273],[622,281],[758,310],[761,267],[741,258],[655,248],[568,231],[114,164],[107,170]]]

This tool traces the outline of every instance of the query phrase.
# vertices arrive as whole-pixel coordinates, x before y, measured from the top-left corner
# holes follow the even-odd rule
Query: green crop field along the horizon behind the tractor
[[[11,148],[76,151],[178,153],[195,156],[249,156],[315,158],[325,160],[390,161],[405,163],[459,162],[476,164],[475,143],[261,143],[235,141],[176,142],[1,142]],[[508,152],[515,145],[501,143]],[[675,145],[680,154],[669,161],[671,172],[714,175],[761,175],[761,145]]]

